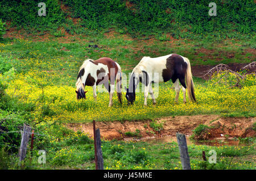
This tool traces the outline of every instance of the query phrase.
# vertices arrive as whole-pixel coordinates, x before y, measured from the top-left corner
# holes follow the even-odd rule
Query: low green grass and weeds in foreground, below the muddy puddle
[[[44,144],[35,145],[33,154],[28,150],[27,159],[23,162],[23,169],[95,169],[94,148],[90,138],[89,142],[79,142],[82,137],[88,137],[84,133],[70,132],[65,134],[63,129],[58,133],[59,140],[51,135],[52,127],[48,127],[49,137],[46,138],[51,146]],[[62,135],[62,136],[60,136]],[[41,140],[42,138],[40,138]],[[70,145],[67,141],[74,140]],[[38,141],[36,141],[38,142]],[[35,142],[35,143],[36,143]],[[197,169],[255,169],[255,161],[248,159],[255,154],[254,144],[247,146],[205,146],[188,145],[188,153],[191,168]],[[38,150],[47,151],[46,164],[39,165]],[[210,150],[216,151],[216,163],[209,163]],[[207,161],[201,158],[205,151]],[[160,143],[134,142],[134,141],[106,141],[102,140],[102,153],[104,168],[106,170],[118,169],[171,169],[180,170],[181,162],[179,147],[176,142]],[[13,155],[1,151],[1,169],[17,169],[18,159]]]

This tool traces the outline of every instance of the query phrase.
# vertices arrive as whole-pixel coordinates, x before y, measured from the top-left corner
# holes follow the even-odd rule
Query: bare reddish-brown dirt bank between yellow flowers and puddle
[[[163,125],[163,129],[156,131],[150,127],[151,120],[144,121],[108,121],[96,122],[96,129],[100,128],[101,136],[113,140],[123,140],[127,132],[137,133],[144,138],[156,136],[175,136],[176,132],[184,133],[187,136],[192,134],[192,130],[199,124],[214,126],[210,129],[210,138],[229,135],[229,137],[254,137],[253,130],[255,118],[250,117],[220,117],[219,115],[195,115],[195,116],[170,116],[155,120],[158,125]],[[68,124],[67,127],[74,131],[83,131],[93,136],[93,124]]]

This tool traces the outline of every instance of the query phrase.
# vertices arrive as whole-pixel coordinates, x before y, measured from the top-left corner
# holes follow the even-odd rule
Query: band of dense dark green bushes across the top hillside
[[[209,16],[209,2],[204,0],[48,0],[45,2],[46,16],[38,16],[39,2],[2,1],[0,16],[11,20],[13,26],[27,30],[31,27],[35,30],[63,27],[71,33],[112,27],[133,35],[170,32],[172,36],[181,37],[187,37],[192,32],[205,34],[221,31],[226,36],[233,36],[233,31],[255,32],[253,0],[216,1],[217,16]],[[79,24],[73,24],[69,17],[79,18]]]

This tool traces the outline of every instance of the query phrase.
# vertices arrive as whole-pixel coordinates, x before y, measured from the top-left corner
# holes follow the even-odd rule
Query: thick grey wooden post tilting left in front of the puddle
[[[183,170],[191,170],[190,159],[188,155],[187,140],[184,134],[176,133],[177,144],[180,150],[180,159]]]

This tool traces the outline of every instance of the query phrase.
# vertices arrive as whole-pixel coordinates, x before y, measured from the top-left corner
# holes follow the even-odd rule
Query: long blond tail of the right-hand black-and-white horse
[[[195,97],[195,92],[194,92],[194,83],[193,83],[192,73],[191,73],[191,65],[190,65],[188,58],[184,57],[184,59],[185,59],[185,62],[187,62],[187,64],[188,64],[187,73],[185,75],[185,82],[186,82],[187,89],[188,89],[188,97],[191,101],[196,102],[196,97]]]

